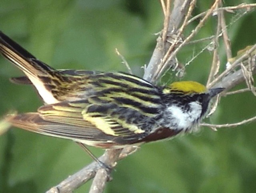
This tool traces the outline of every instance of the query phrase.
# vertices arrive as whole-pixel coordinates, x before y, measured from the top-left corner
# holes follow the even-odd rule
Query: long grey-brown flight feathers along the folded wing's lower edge
[[[5,118],[12,126],[43,134],[46,136],[70,139],[84,144],[92,145],[94,140],[109,142],[113,136],[102,133],[94,126],[76,126],[60,122],[44,120],[39,113],[9,114]],[[101,136],[101,137],[100,137]]]

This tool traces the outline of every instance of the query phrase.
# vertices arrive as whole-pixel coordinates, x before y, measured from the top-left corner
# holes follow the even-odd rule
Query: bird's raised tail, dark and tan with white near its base
[[[52,88],[58,87],[60,80],[60,73],[42,61],[36,59],[34,55],[22,48],[18,43],[10,39],[0,31],[0,53],[21,69],[27,79],[14,78],[14,83],[33,84],[39,95],[42,97],[46,104],[58,102],[56,96],[52,94]],[[56,81],[53,83],[52,79]]]

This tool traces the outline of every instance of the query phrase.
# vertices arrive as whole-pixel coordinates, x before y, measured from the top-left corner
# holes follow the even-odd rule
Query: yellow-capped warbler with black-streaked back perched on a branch
[[[158,87],[121,72],[55,70],[0,33],[0,52],[32,84],[45,105],[37,112],[8,115],[13,126],[100,148],[139,146],[191,132],[210,100],[224,88],[207,90],[194,81]]]

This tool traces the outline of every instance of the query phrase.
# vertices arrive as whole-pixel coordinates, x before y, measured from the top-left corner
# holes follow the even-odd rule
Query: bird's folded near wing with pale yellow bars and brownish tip
[[[91,112],[88,112],[89,107]],[[144,130],[110,116],[111,110],[106,108],[112,107],[111,104],[94,106],[88,100],[60,102],[42,106],[35,113],[9,115],[7,120],[25,130],[102,148],[122,146],[143,138]],[[101,108],[102,112],[92,112],[92,108]]]

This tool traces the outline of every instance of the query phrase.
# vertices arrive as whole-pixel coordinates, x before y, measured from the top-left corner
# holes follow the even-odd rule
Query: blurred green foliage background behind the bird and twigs
[[[226,0],[225,5],[242,2]],[[198,1],[194,15],[210,4]],[[256,42],[256,12],[234,22],[239,13],[225,13],[233,55]],[[118,48],[134,73],[142,76],[141,67],[150,60],[154,33],[161,30],[162,20],[157,0],[9,0],[0,6],[0,30],[57,69],[126,71],[115,53]],[[216,18],[211,18],[196,38],[214,35],[215,30]],[[188,45],[178,59],[186,63],[206,45]],[[221,63],[226,63],[222,41],[220,56]],[[211,60],[212,53],[204,51],[186,68],[184,80],[206,83]],[[22,73],[0,57],[0,116],[13,109],[33,112],[42,105],[30,86],[8,81],[18,75]],[[168,72],[162,83],[177,79]],[[255,116],[255,101],[250,92],[224,97],[215,114],[204,121],[232,123]],[[118,163],[105,192],[255,192],[255,129],[255,122],[218,132],[202,128],[195,134],[143,145]],[[97,156],[103,153],[91,150]],[[90,161],[71,141],[12,129],[0,136],[0,191],[44,192]],[[87,183],[75,192],[89,188]]]

